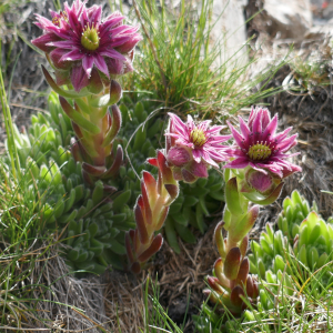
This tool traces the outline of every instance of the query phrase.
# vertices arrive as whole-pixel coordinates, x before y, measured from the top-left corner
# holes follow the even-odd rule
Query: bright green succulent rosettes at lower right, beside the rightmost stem
[[[251,242],[250,271],[262,280],[258,311],[245,311],[243,324],[251,326],[249,322],[260,319],[254,332],[273,331],[274,326],[276,329],[276,315],[287,313],[287,316],[297,316],[299,307],[306,313],[306,307],[311,306],[312,312],[315,304],[307,304],[309,295],[323,300],[325,304],[333,285],[333,228],[321,219],[316,203],[313,202],[310,208],[309,202],[294,190],[283,201],[278,226],[274,232],[272,224],[266,223],[260,242]],[[297,306],[294,293],[297,294],[296,300],[305,300],[302,304],[296,303]],[[310,321],[315,325],[316,316],[311,316]]]

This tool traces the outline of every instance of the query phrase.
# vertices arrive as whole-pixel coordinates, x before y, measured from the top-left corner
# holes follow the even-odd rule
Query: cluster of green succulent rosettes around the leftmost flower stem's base
[[[36,211],[49,231],[68,224],[62,235],[69,246],[62,252],[72,270],[100,274],[110,264],[122,269],[124,232],[134,226],[127,205],[131,192],[103,202],[100,181],[92,189],[85,188],[81,164],[67,149],[72,135],[70,119],[54,93],[49,97],[49,114],[32,115],[28,133],[16,129],[14,135],[29,193],[34,193],[32,200],[39,203]]]

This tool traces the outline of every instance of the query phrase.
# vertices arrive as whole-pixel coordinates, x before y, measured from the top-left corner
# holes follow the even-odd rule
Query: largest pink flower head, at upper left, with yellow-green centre
[[[56,67],[58,82],[65,83],[65,71],[75,91],[90,83],[94,69],[107,82],[132,71],[133,49],[142,39],[138,27],[122,24],[120,12],[102,20],[102,8],[85,8],[85,2],[75,0],[71,8],[65,2],[64,11],[51,11],[52,21],[37,14],[36,24],[44,33],[32,40]]]

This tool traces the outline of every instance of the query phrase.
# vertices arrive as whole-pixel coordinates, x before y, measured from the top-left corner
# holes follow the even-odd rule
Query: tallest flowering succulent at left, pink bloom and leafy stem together
[[[51,11],[51,17],[48,20],[37,16],[36,24],[43,34],[32,43],[46,52],[53,68],[56,81],[44,68],[43,74],[72,121],[72,152],[82,163],[84,181],[93,185],[99,179],[114,176],[122,163],[122,148],[119,145],[115,154],[112,150],[121,125],[121,112],[115,105],[121,87],[113,79],[133,70],[134,47],[141,36],[137,27],[122,24],[121,13],[102,20],[100,6],[87,8],[81,0],[72,7],[65,2],[64,10]],[[72,99],[73,104],[67,99]],[[107,184],[104,189],[112,191]]]

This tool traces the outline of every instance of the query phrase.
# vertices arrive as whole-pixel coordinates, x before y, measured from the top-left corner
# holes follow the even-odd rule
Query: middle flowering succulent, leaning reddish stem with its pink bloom
[[[175,114],[169,115],[165,150],[148,160],[158,168],[158,179],[143,171],[142,194],[134,208],[137,229],[130,230],[125,236],[129,264],[134,273],[139,273],[162,245],[162,235],[154,233],[162,228],[169,206],[179,194],[179,181],[194,182],[206,178],[209,165],[218,168],[219,162],[229,158],[228,148],[221,143],[231,135],[219,135],[223,127],[210,127],[209,121],[195,124],[191,117],[184,123]]]

